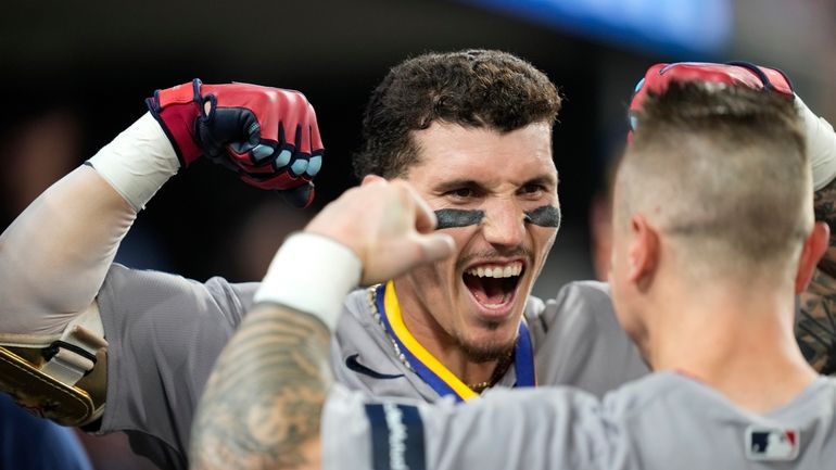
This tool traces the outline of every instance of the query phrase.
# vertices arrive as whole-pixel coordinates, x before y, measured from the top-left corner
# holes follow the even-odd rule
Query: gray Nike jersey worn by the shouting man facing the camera
[[[114,265],[99,293],[110,344],[107,404],[99,432],[125,431],[137,454],[161,468],[185,469],[200,394],[256,288]],[[332,347],[339,382],[379,396],[439,398],[393,354],[365,290],[352,293],[345,309]],[[545,305],[532,298],[527,318],[540,383],[604,393],[646,371],[618,327],[604,284],[569,284]],[[354,360],[346,363],[350,357]],[[515,382],[511,367],[501,384]]]

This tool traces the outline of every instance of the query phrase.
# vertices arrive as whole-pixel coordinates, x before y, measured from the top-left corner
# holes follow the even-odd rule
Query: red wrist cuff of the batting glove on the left
[[[183,168],[203,154],[194,138],[195,122],[203,113],[201,85],[201,80],[195,78],[191,84],[156,90],[152,98],[145,100],[149,111],[172,141]]]

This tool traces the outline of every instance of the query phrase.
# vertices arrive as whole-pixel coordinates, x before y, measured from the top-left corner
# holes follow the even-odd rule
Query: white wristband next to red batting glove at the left
[[[172,142],[151,113],[145,113],[87,161],[135,211],[180,168]]]

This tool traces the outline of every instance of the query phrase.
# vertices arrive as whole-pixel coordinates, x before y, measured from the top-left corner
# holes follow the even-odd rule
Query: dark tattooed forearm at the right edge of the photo
[[[831,227],[831,240],[812,282],[800,297],[796,339],[807,360],[821,373],[836,373],[836,180],[815,192],[815,219]]]

